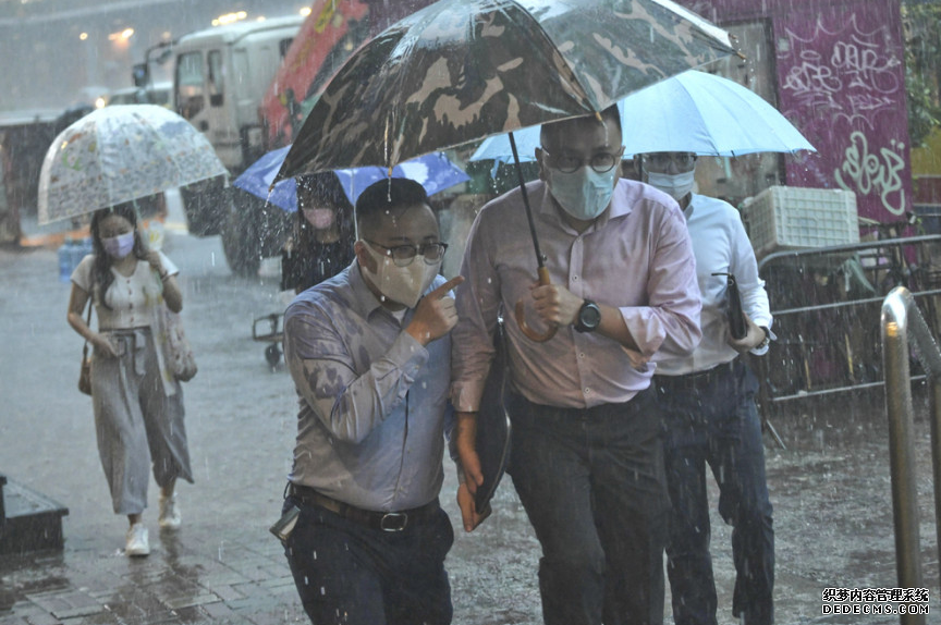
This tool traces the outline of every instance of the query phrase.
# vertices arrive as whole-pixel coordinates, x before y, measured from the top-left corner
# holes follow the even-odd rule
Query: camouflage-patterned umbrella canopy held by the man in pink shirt
[[[732,53],[669,0],[441,0],[354,53],[279,179],[414,156],[601,111]]]

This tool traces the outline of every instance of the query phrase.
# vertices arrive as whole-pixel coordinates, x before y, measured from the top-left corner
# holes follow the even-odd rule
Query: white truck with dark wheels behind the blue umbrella
[[[265,152],[258,107],[305,17],[237,22],[191,33],[160,46],[173,60],[174,110],[203,132],[234,179]],[[149,53],[135,82],[149,78]],[[181,189],[190,232],[222,235],[233,272],[257,272],[278,254],[288,213],[220,179]]]

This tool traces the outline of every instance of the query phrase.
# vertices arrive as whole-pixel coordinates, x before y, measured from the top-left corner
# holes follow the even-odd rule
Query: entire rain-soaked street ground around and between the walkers
[[[296,399],[271,370],[256,317],[280,311],[277,267],[240,279],[218,237],[168,228],[164,252],[180,266],[184,322],[199,373],[184,385],[196,483],[178,492],[183,527],[161,534],[151,482],[145,523],[152,553],[123,555],[126,519],[111,513],[95,443],[90,400],[75,384],[82,342],[65,322],[68,284],[54,248],[0,249],[0,473],[68,506],[62,552],[0,557],[0,624],[306,623],[280,543],[268,534],[293,445]],[[824,588],[894,587],[888,434],[881,397],[794,408],[768,440],[775,507],[778,622],[897,623],[821,615]],[[916,456],[921,551],[931,609],[938,604],[928,425],[918,403]],[[460,529],[453,468],[442,503],[455,522],[449,554],[459,625],[541,622],[538,543],[505,482],[493,516]],[[711,481],[710,481],[711,483]],[[712,501],[717,493],[712,487]],[[713,505],[714,507],[714,505]],[[720,624],[734,623],[730,531],[712,516]],[[671,623],[670,608],[667,608]],[[929,623],[941,622],[937,613]]]

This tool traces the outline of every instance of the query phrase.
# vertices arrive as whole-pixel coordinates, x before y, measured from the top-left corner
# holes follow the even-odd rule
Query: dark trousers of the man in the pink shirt
[[[508,402],[510,475],[542,546],[547,625],[663,621],[668,500],[653,401],[644,391],[588,409]]]

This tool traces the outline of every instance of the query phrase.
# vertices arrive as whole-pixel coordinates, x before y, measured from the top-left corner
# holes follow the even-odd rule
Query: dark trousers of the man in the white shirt
[[[719,514],[733,527],[732,612],[746,625],[774,622],[774,530],[765,480],[758,382],[738,360],[706,384],[655,377],[667,437],[672,513],[667,573],[676,625],[716,625],[706,465],[719,485]],[[701,385],[701,388],[700,388]]]

